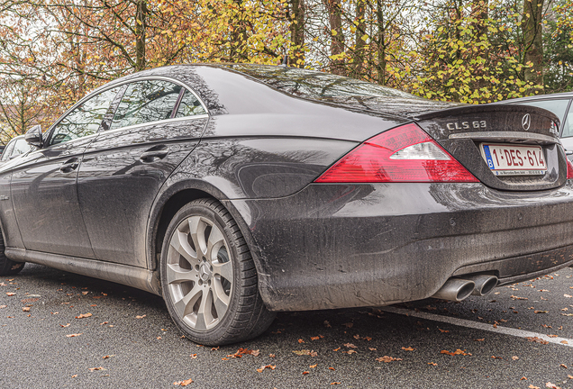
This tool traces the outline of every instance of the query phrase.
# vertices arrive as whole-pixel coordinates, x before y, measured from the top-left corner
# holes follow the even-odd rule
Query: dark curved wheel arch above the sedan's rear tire
[[[157,196],[155,203],[151,208],[147,228],[146,253],[148,268],[153,270],[157,276],[159,276],[161,248],[169,222],[171,222],[173,216],[175,216],[177,211],[179,211],[185,204],[199,198],[213,198],[214,200],[221,202],[225,209],[231,213],[232,218],[237,222],[237,225],[241,230],[243,238],[249,245],[250,254],[255,263],[255,267],[257,268],[257,273],[259,275],[265,274],[264,267],[260,261],[258,247],[250,234],[247,224],[242,219],[241,213],[237,211],[230,201],[227,201],[228,198],[221,190],[202,180],[190,180],[170,185]],[[259,291],[261,289],[260,285],[259,277]],[[264,296],[265,294],[262,295]]]

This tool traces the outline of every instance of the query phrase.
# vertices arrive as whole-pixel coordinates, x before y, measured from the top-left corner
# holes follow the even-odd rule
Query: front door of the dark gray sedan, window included
[[[118,89],[79,104],[52,126],[44,148],[14,167],[11,196],[26,249],[95,258],[77,202],[77,168]]]

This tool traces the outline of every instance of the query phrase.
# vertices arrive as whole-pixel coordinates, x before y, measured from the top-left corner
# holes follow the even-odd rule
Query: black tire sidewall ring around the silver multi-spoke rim
[[[176,215],[173,217],[169,223],[168,230],[165,234],[165,239],[163,240],[163,246],[161,249],[161,259],[160,259],[160,278],[161,278],[161,288],[163,294],[163,300],[165,301],[168,312],[171,318],[176,323],[179,330],[184,332],[187,338],[192,339],[197,343],[202,343],[209,345],[210,343],[217,343],[217,339],[223,339],[225,334],[232,327],[232,322],[234,321],[235,313],[237,312],[237,307],[240,305],[241,300],[241,261],[239,260],[239,253],[237,252],[237,245],[232,238],[232,231],[229,228],[227,222],[223,220],[223,217],[217,213],[212,206],[207,205],[208,203],[196,201],[186,204],[181,208]],[[229,307],[227,312],[223,316],[223,320],[211,330],[197,331],[190,328],[183,320],[177,315],[177,311],[173,306],[173,301],[169,295],[168,282],[167,282],[167,254],[169,249],[169,242],[173,236],[174,231],[176,231],[177,226],[185,221],[190,216],[203,216],[214,222],[217,227],[223,231],[223,239],[227,244],[227,248],[230,251],[230,260],[232,261],[232,294]]]

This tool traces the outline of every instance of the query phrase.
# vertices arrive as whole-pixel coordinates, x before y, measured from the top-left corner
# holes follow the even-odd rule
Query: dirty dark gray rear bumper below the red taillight
[[[232,200],[274,311],[431,296],[450,276],[517,282],[573,261],[573,185],[508,193],[481,184],[309,185]]]

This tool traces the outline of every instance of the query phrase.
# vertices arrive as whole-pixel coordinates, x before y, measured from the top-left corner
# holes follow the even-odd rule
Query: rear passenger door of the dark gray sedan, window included
[[[176,112],[177,107],[177,112]],[[77,193],[96,258],[146,267],[153,199],[208,122],[196,95],[165,79],[132,82],[86,149]]]

